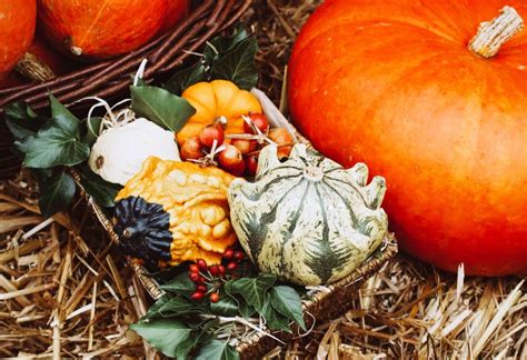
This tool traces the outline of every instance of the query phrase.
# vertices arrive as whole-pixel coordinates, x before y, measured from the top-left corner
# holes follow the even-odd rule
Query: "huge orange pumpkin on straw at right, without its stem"
[[[468,49],[506,4],[527,18],[524,0],[327,0],[290,59],[301,132],[386,177],[401,247],[449,271],[527,273],[527,32]]]

